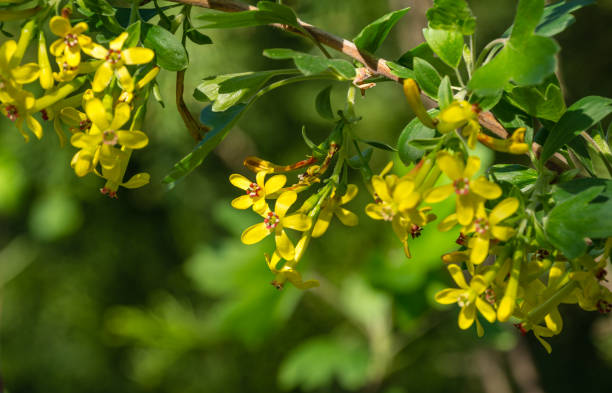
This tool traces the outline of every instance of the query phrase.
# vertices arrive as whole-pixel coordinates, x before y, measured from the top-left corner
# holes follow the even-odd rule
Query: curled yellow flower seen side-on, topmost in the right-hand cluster
[[[436,117],[438,121],[436,128],[443,134],[463,127],[461,134],[467,137],[470,149],[476,146],[476,140],[480,132],[478,124],[478,113],[467,101],[454,101],[449,106],[440,111]]]

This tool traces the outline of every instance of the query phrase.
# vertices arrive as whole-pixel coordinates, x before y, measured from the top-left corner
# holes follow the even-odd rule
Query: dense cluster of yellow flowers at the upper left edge
[[[154,52],[136,46],[125,48],[127,32],[105,48],[86,35],[85,22],[72,26],[66,16],[52,17],[49,28],[58,37],[49,47],[35,20],[24,25],[17,42],[9,40],[0,46],[2,113],[15,122],[26,142],[29,135],[24,123],[38,139],[43,136],[43,127],[34,117],[38,112],[44,120],[53,121],[62,146],[67,139],[64,126],[68,126],[70,143],[78,149],[72,168],[77,176],[94,173],[104,178],[103,194],[116,197],[119,186],[136,188],[147,184],[147,173],[123,179],[132,150],[145,147],[149,141],[138,129],[149,94],[145,86],[156,77],[159,68],[148,67],[148,72],[136,81],[128,66],[150,63]],[[22,65],[23,55],[36,34],[38,62]],[[52,67],[49,54],[57,67]],[[37,80],[45,91],[38,98],[24,88]],[[91,83],[91,88],[86,83]]]

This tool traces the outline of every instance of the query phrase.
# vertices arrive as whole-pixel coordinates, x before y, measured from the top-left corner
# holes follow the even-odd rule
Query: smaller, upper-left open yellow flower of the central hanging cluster
[[[268,179],[264,183],[266,172],[257,172],[255,183],[246,177],[238,174],[230,176],[230,182],[246,191],[246,195],[241,195],[232,201],[232,207],[236,209],[248,209],[253,206],[253,211],[256,213],[264,213],[268,206],[266,205],[266,197],[278,192],[285,183],[287,177],[285,175],[276,175]]]

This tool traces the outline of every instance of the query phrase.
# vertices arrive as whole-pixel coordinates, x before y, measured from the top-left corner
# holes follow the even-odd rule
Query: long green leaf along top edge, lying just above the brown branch
[[[198,29],[233,29],[237,27],[262,26],[282,23],[299,27],[293,10],[281,4],[260,1],[260,9],[241,12],[207,12],[197,19],[207,22]]]

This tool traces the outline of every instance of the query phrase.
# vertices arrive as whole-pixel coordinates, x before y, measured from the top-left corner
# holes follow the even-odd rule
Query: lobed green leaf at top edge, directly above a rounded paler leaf
[[[465,0],[434,0],[433,7],[427,10],[427,20],[431,28],[463,35],[473,34],[476,28],[476,18]]]

